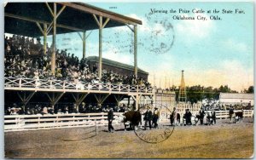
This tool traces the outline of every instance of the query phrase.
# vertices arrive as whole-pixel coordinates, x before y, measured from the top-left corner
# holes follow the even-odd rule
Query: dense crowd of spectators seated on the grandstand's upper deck
[[[36,43],[35,43],[36,42]],[[79,60],[67,49],[55,52],[55,76],[51,74],[51,49],[47,44],[46,54],[40,38],[34,39],[13,35],[4,38],[4,76],[34,79],[57,79],[74,83],[119,83],[150,86],[143,78],[134,75],[120,75],[113,71],[102,71],[102,79],[97,75],[97,66],[90,66],[86,58]]]

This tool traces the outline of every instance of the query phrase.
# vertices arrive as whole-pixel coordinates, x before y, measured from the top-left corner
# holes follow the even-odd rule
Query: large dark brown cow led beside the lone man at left
[[[124,124],[129,121],[132,129],[138,126],[139,123],[142,123],[142,114],[139,111],[127,111],[124,113],[124,116]]]

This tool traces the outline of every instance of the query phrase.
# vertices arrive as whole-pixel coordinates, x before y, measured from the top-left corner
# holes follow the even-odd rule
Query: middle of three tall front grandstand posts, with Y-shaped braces
[[[98,65],[98,77],[99,80],[102,80],[102,29],[108,24],[109,18],[102,23],[102,15],[100,15],[99,19],[96,17],[96,14],[92,14],[94,19],[96,20],[97,25],[99,26],[99,65]]]

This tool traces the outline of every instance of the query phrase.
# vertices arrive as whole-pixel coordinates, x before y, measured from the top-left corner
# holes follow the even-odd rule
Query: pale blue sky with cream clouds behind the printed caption
[[[148,81],[158,87],[179,86],[182,70],[187,86],[228,85],[240,92],[253,85],[253,3],[90,4],[143,21],[137,26],[137,63],[148,71]],[[177,12],[170,13],[171,9]],[[179,9],[189,13],[179,13]],[[192,9],[205,13],[192,13]],[[213,9],[220,12],[215,14]],[[223,9],[233,13],[224,14]],[[234,13],[236,9],[242,13]],[[195,20],[174,20],[177,16]],[[197,20],[197,16],[207,20]],[[212,16],[221,20],[210,20]],[[98,30],[86,34],[90,34],[86,56],[98,55]],[[51,43],[51,37],[48,41]],[[133,32],[127,26],[103,29],[102,45],[103,58],[133,65]],[[57,48],[82,57],[77,33],[58,35]]]

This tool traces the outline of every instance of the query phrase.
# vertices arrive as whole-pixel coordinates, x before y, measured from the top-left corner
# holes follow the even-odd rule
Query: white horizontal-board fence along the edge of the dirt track
[[[237,112],[237,111],[235,111]],[[114,112],[113,124],[119,124],[119,116],[122,112]],[[192,113],[195,115],[195,113]],[[75,127],[90,127],[108,125],[108,113],[85,114],[54,114],[54,115],[9,115],[4,116],[4,131],[19,131],[32,129],[60,129]],[[183,116],[183,114],[181,114]],[[170,114],[162,112],[160,123],[169,122]],[[229,111],[216,111],[216,117],[228,118]],[[253,110],[244,110],[243,117],[253,117]]]

